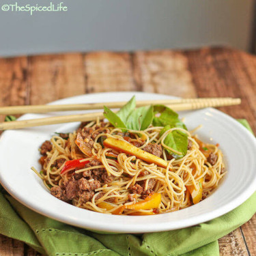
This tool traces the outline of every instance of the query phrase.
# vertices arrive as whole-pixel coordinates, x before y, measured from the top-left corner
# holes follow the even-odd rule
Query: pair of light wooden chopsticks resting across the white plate
[[[163,104],[169,106],[173,111],[186,111],[193,109],[203,109],[208,106],[231,106],[240,104],[240,98],[190,98],[177,100],[141,100],[137,101],[138,106],[147,106],[150,104]],[[0,115],[14,115],[24,113],[49,113],[56,111],[78,111],[102,109],[107,106],[109,109],[119,109],[126,102],[104,102],[88,104],[60,104],[60,105],[32,105],[32,106],[3,106],[0,107]],[[104,118],[102,112],[86,113],[77,115],[63,115],[57,117],[46,117],[38,119],[29,119],[14,122],[0,123],[0,130],[10,130],[27,128],[32,126],[46,126],[49,124],[61,124],[69,122],[87,122]]]

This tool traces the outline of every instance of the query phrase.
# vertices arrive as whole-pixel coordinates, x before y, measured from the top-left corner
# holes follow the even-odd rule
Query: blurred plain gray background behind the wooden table
[[[67,12],[3,12],[0,55],[229,45],[248,51],[253,0],[60,0]],[[20,0],[49,5],[45,0]],[[0,0],[4,3],[15,3]]]

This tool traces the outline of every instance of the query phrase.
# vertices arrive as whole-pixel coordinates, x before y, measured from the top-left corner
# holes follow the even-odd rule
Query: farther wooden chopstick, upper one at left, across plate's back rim
[[[181,103],[195,103],[195,102],[218,102],[220,100],[233,100],[232,98],[189,98],[189,99],[175,99],[175,100],[139,100],[137,106],[146,106],[150,104],[181,104]],[[124,106],[126,102],[102,102],[102,103],[87,103],[87,104],[58,104],[58,105],[31,105],[31,106],[3,106],[0,107],[0,115],[14,115],[25,113],[49,113],[57,111],[78,111],[103,109],[107,106],[109,109],[119,109]]]

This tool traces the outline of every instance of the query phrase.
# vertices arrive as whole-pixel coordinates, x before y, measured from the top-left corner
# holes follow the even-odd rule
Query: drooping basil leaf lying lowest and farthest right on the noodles
[[[160,131],[159,136],[161,137],[162,134],[164,134],[167,130],[171,128],[172,128],[171,126],[165,126]],[[188,135],[184,132],[181,132],[180,130],[173,130],[172,132],[167,134],[167,137],[165,137],[164,143],[168,147],[173,148],[173,150],[176,150],[182,153],[182,154],[176,154],[174,152],[171,152],[171,150],[167,148],[165,149],[169,154],[171,154],[171,156],[173,156],[173,158],[179,159],[185,156],[188,150]]]

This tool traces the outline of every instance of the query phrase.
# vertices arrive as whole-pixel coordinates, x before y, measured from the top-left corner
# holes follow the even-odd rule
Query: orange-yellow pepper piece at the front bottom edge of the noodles
[[[154,208],[158,208],[161,203],[161,194],[156,193],[153,195],[149,195],[145,198],[145,200],[140,201],[138,203],[133,203],[130,205],[124,205],[124,209],[129,210],[151,210]]]

